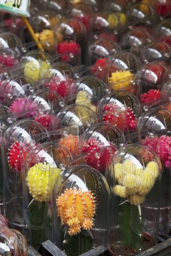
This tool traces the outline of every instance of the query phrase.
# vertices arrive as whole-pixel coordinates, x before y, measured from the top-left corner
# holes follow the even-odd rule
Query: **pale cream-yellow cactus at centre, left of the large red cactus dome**
[[[75,103],[83,106],[87,106],[92,109],[96,113],[97,107],[91,103],[91,99],[88,98],[88,94],[86,91],[80,91],[77,93],[77,98]]]

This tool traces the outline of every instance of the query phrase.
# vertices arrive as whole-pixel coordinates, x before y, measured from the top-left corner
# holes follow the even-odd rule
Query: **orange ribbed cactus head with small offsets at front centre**
[[[95,208],[95,198],[90,190],[82,192],[82,189],[65,189],[57,198],[58,215],[62,223],[69,227],[70,236],[80,233],[81,228],[91,229]]]

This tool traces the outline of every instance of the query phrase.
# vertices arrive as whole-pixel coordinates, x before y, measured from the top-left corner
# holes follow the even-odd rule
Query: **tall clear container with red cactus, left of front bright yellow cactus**
[[[23,161],[35,142],[32,135],[37,134],[38,144],[49,140],[46,128],[38,122],[29,119],[21,120],[11,125],[4,134],[1,150],[3,160],[3,189],[6,195],[4,201],[4,215],[11,228],[19,230],[28,238],[28,212],[24,209],[24,183],[22,178]],[[21,143],[22,142],[22,143]],[[21,144],[20,144],[21,143]],[[21,160],[22,156],[22,160]]]

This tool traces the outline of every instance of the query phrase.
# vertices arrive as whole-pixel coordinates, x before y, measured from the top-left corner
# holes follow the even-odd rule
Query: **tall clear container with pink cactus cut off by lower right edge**
[[[171,111],[158,108],[150,109],[139,118],[139,130],[148,130],[142,137],[142,145],[147,146],[160,158],[162,163],[162,191],[160,195],[159,235],[162,239],[170,237],[170,144],[171,144]]]

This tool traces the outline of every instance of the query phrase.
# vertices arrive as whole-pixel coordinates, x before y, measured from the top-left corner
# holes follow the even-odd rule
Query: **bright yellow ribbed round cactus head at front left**
[[[47,202],[54,188],[61,169],[50,164],[38,163],[27,173],[27,186],[32,197],[40,202]]]

